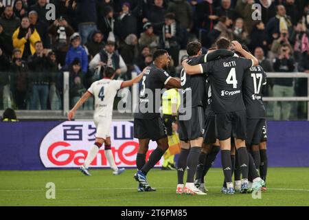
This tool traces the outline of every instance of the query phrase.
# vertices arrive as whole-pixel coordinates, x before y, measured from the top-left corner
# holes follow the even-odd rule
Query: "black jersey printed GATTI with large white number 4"
[[[201,64],[203,73],[209,74],[211,107],[215,113],[246,109],[242,99],[242,78],[252,66],[252,60],[236,56]]]

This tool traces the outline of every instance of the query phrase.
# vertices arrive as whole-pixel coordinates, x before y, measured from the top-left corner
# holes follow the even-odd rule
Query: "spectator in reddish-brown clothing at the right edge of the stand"
[[[294,57],[296,61],[300,61],[301,55],[309,50],[309,31],[305,23],[297,23],[290,39],[294,43]]]

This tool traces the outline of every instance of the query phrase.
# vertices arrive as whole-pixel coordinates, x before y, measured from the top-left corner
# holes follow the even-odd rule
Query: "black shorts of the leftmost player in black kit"
[[[134,119],[134,137],[156,141],[167,137],[167,131],[162,118]]]

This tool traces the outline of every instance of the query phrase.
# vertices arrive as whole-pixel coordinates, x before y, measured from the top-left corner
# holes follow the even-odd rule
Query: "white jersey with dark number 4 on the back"
[[[95,98],[95,114],[111,116],[117,90],[121,88],[122,80],[103,78],[95,81],[88,91]]]

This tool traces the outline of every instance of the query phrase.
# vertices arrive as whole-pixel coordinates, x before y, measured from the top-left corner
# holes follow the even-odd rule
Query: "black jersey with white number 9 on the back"
[[[205,63],[205,55],[195,56],[187,62],[190,65]],[[202,106],[205,107],[205,83],[206,78],[203,74],[188,75],[184,69],[181,69],[181,87],[183,88],[183,99],[180,108],[190,108]],[[181,112],[181,109],[180,109]]]

